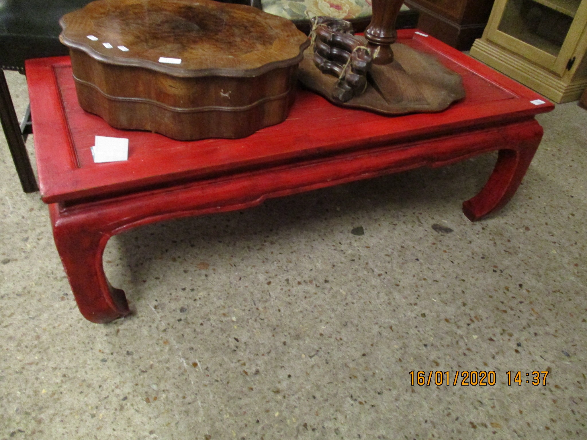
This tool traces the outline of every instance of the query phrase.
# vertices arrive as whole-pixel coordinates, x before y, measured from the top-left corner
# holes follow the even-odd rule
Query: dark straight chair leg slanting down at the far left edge
[[[21,127],[16,119],[6,77],[4,71],[0,69],[0,72],[2,72],[0,75],[0,122],[4,129],[4,136],[6,136],[8,148],[12,154],[18,178],[21,180],[22,190],[24,192],[39,191],[31,161],[26,153],[25,142],[22,139]]]

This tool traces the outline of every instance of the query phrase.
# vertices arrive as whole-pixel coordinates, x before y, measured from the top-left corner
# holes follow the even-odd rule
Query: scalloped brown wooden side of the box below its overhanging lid
[[[184,141],[234,139],[281,123],[295,99],[297,66],[248,78],[181,78],[141,67],[107,65],[76,49],[70,55],[80,107],[114,128],[154,131]],[[147,94],[156,99],[138,97],[145,83],[157,84]],[[134,87],[129,89],[129,85]],[[241,92],[237,106],[234,90]],[[181,93],[207,99],[202,99],[204,105],[191,108],[170,104]]]

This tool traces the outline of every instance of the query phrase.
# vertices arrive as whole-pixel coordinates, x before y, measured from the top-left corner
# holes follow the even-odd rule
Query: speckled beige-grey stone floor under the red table
[[[134,314],[108,325],[77,312],[0,138],[0,439],[587,438],[587,111],[538,119],[485,221],[461,202],[493,155],[116,236],[106,272]]]

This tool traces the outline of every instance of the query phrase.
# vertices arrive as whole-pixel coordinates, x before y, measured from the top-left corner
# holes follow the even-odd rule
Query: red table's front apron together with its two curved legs
[[[102,267],[104,248],[114,233],[166,219],[252,207],[266,198],[425,164],[441,166],[505,144],[485,187],[463,204],[465,215],[474,221],[511,199],[541,138],[542,127],[537,121],[525,120],[404,150],[375,150],[351,156],[353,160],[349,160],[349,155],[340,155],[310,164],[244,172],[231,179],[197,181],[89,204],[50,204],[53,235],[80,312],[90,321],[107,323],[130,313],[124,292],[110,286]]]

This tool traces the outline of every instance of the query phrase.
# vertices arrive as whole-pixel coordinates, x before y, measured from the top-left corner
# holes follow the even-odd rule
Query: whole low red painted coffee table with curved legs
[[[532,103],[541,96],[434,38],[407,30],[399,41],[460,73],[467,97],[442,113],[384,117],[302,90],[284,123],[238,140],[116,130],[79,107],[69,57],[26,62],[41,195],[83,316],[106,323],[129,313],[124,292],[104,275],[102,253],[112,235],[135,226],[492,150],[495,170],[463,211],[476,220],[506,204],[542,138],[534,117],[554,106]],[[129,138],[129,160],[93,163],[96,135]]]

